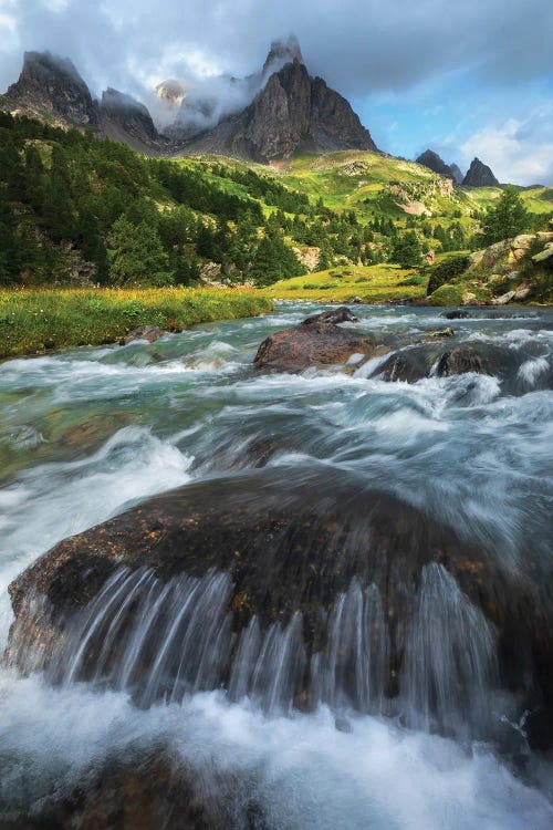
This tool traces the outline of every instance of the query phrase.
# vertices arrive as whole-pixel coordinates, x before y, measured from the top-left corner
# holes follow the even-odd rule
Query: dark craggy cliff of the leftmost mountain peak
[[[19,80],[8,98],[31,113],[46,113],[69,125],[98,126],[98,105],[69,60],[50,52],[25,52]]]

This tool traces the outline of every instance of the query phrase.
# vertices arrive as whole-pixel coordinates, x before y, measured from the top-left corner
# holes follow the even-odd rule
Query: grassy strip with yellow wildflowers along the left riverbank
[[[254,317],[272,300],[248,289],[19,289],[0,291],[0,357],[116,342],[138,325],[180,331]]]

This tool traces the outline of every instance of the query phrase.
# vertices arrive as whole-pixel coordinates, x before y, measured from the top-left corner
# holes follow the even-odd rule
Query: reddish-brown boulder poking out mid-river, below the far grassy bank
[[[349,309],[342,307],[270,334],[259,346],[254,363],[260,369],[302,372],[307,366],[344,363],[353,354],[374,354],[377,346],[372,338],[338,325],[354,319]]]

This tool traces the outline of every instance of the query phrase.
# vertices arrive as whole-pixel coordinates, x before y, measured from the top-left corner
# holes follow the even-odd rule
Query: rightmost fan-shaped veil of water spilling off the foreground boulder
[[[410,724],[488,732],[495,679],[494,637],[486,618],[442,566],[425,566],[401,675]]]

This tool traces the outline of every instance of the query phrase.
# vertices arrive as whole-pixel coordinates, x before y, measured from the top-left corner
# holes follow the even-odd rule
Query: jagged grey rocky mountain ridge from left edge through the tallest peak
[[[63,126],[91,127],[155,155],[209,152],[268,163],[291,157],[298,149],[376,149],[348,102],[309,74],[295,39],[273,43],[258,75],[230,81],[253,91],[260,87],[248,106],[206,128],[209,101],[187,103],[179,87],[176,123],[161,135],[147,107],[135,98],[108,89],[96,101],[71,61],[49,52],[27,52],[19,80],[3,96],[3,107],[54,118]],[[170,90],[159,84],[158,95],[173,95],[176,84]]]

